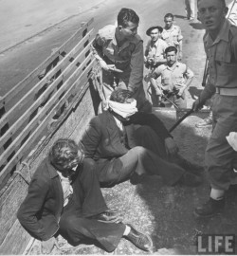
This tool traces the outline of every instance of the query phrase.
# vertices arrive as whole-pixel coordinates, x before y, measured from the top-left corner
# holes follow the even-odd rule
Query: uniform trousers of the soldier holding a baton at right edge
[[[229,146],[226,138],[230,132],[237,132],[237,96],[215,94],[211,107],[213,127],[205,161],[211,188],[226,191],[237,177],[233,172],[237,153]]]

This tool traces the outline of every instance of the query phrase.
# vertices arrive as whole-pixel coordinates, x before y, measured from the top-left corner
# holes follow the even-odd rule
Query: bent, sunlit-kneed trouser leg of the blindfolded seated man
[[[167,185],[173,185],[184,172],[181,167],[162,159],[151,150],[137,146],[101,168],[100,181],[102,185],[113,186],[134,173],[146,173],[160,175]]]

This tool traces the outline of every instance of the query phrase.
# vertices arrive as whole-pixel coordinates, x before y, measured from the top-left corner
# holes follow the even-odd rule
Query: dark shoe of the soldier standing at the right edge
[[[225,207],[225,199],[214,200],[212,198],[209,199],[207,203],[202,205],[201,207],[197,207],[194,210],[194,215],[196,217],[211,217],[215,214],[220,213]]]

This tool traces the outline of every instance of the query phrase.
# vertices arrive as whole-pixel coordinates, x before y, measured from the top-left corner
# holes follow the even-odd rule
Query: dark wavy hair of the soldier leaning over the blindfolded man
[[[127,27],[128,22],[139,23],[139,17],[133,9],[122,8],[118,12],[118,26]]]

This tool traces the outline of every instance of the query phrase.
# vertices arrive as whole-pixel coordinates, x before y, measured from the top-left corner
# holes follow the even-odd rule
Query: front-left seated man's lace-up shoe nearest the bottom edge
[[[125,236],[127,240],[129,240],[131,243],[133,243],[136,247],[149,251],[153,247],[153,240],[148,234],[143,234],[141,232],[138,232],[134,227],[130,224],[127,224],[131,228],[131,231],[128,235]]]

